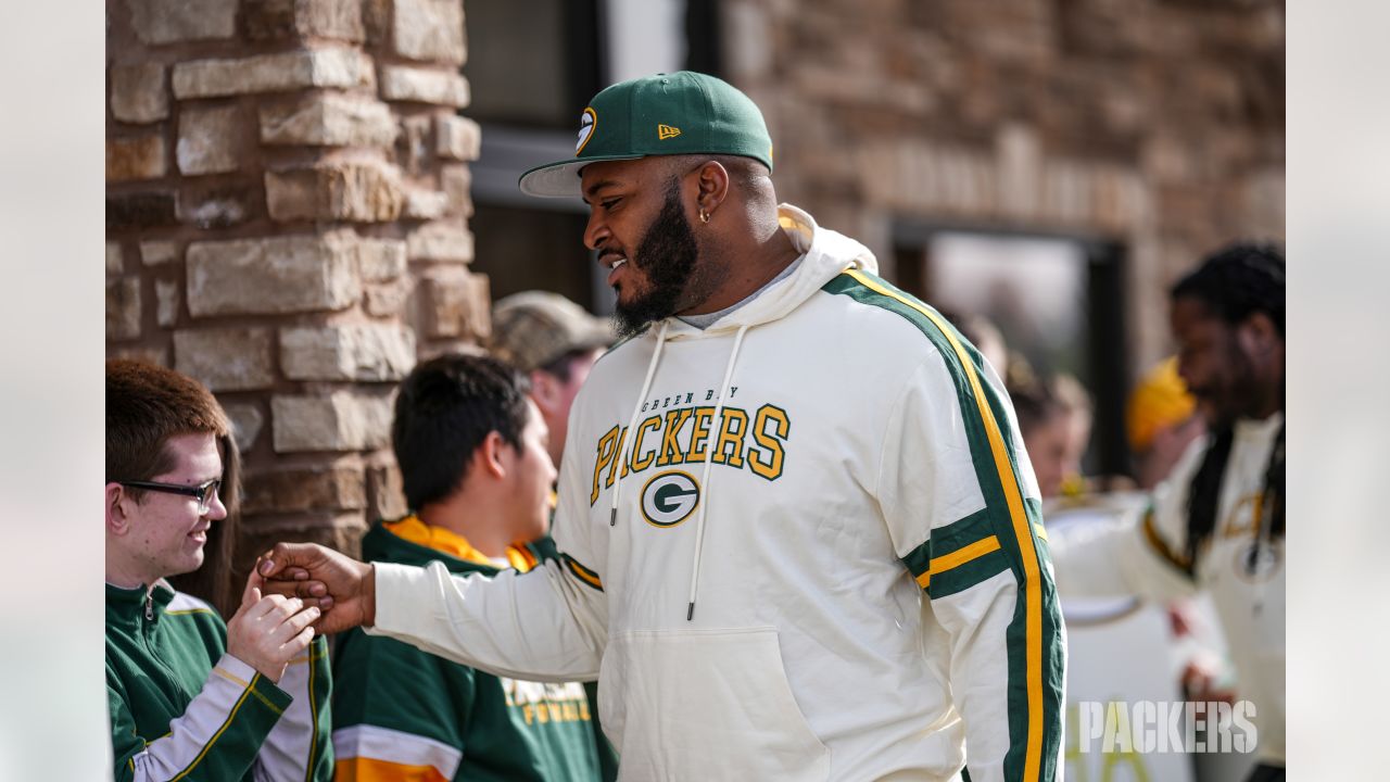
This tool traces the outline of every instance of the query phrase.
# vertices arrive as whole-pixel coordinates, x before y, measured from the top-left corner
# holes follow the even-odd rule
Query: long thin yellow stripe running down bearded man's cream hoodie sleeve
[[[990,440],[990,452],[994,456],[994,469],[998,470],[999,483],[1004,486],[1004,498],[1009,506],[1009,519],[1013,523],[1013,536],[1017,538],[1019,554],[1023,559],[1026,616],[1024,651],[1027,660],[1026,668],[1029,693],[1029,740],[1023,758],[1023,778],[1037,779],[1042,767],[1042,579],[1041,572],[1038,570],[1037,550],[1033,545],[1033,529],[1029,523],[1027,513],[1023,509],[1023,493],[1019,491],[1019,483],[1013,477],[1013,466],[1009,463],[1009,452],[1004,445],[1004,434],[999,430],[999,422],[994,419],[994,410],[990,408],[990,402],[984,397],[984,388],[980,385],[980,377],[974,372],[974,362],[970,360],[970,355],[966,353],[965,346],[955,338],[951,333],[951,327],[941,320],[941,316],[931,312],[930,308],[902,296],[895,291],[884,288],[858,269],[847,269],[845,274],[870,291],[897,299],[930,320],[951,344],[952,351],[955,351],[956,358],[960,360],[960,367],[965,370],[966,378],[970,381],[970,392],[974,397],[974,404],[979,406],[980,417],[984,422],[984,431]]]

